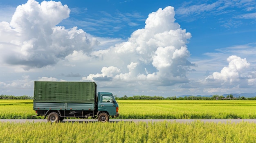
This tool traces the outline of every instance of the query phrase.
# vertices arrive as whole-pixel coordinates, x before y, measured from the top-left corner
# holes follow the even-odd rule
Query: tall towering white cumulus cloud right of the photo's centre
[[[94,56],[109,65],[108,74],[104,73],[105,67],[102,73],[90,74],[83,80],[95,80],[99,76],[117,81],[141,79],[145,83],[157,80],[155,84],[162,86],[187,82],[184,80],[186,74],[194,66],[187,60],[190,53],[186,44],[191,33],[181,29],[174,16],[173,7],[150,13],[144,29],[134,31],[127,42],[94,53]],[[167,82],[163,83],[163,80]]]

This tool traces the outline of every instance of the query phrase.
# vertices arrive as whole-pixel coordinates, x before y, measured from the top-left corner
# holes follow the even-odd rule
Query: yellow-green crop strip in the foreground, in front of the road
[[[255,143],[255,129],[248,122],[0,122],[0,143]]]

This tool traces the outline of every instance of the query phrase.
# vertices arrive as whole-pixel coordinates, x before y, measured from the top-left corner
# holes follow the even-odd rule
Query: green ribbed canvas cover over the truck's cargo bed
[[[87,102],[96,100],[95,82],[35,81],[34,102]]]

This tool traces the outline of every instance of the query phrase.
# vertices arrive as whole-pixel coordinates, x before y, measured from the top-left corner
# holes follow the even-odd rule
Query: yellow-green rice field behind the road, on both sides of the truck
[[[254,100],[120,100],[118,119],[256,119]],[[31,119],[33,100],[1,100],[0,119]],[[34,117],[33,119],[43,119]]]

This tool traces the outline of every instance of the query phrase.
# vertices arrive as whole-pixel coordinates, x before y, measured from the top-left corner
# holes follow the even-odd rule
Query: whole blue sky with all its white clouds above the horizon
[[[256,92],[255,0],[9,0],[0,12],[3,95],[32,96],[35,80],[120,97]]]

